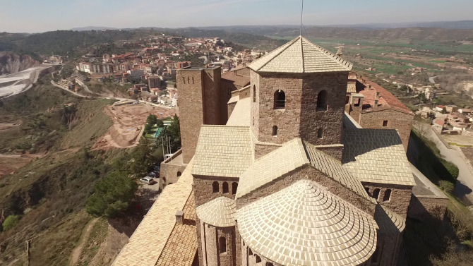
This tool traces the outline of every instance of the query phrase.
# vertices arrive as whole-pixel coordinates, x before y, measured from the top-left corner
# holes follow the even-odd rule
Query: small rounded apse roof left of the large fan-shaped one
[[[234,226],[236,212],[235,200],[220,197],[200,205],[196,209],[197,217],[205,224],[217,227]]]

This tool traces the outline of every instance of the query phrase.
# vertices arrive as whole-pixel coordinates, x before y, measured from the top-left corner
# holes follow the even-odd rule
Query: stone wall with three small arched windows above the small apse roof
[[[198,175],[194,175],[193,177],[193,190],[194,197],[196,198],[196,207],[222,196],[231,198],[232,200],[235,199],[235,194],[233,193],[234,190],[232,188],[235,184],[238,186],[238,178]],[[218,182],[219,190],[217,193],[213,193],[213,182]],[[222,186],[224,182],[228,183],[228,193],[223,193]]]

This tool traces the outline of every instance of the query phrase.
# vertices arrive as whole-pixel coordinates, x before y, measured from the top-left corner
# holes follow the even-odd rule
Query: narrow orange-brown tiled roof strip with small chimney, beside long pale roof
[[[184,205],[184,222],[174,225],[156,266],[191,266],[196,252],[196,201],[191,193]]]

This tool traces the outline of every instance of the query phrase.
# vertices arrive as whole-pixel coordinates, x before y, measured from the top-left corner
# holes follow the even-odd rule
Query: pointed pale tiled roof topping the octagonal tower
[[[299,36],[254,61],[249,68],[257,72],[318,73],[350,71],[352,64]]]

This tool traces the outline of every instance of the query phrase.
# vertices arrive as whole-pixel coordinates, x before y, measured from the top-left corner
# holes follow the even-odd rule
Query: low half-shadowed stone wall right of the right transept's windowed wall
[[[437,219],[443,221],[447,206],[448,198],[412,195],[407,217],[419,220]]]

